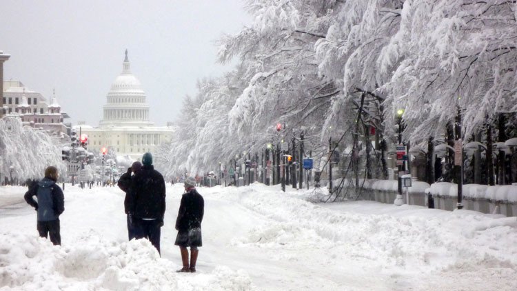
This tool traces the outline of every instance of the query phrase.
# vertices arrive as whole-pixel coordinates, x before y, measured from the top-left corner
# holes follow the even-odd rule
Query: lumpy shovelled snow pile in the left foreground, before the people
[[[27,234],[0,234],[0,290],[252,290],[243,272],[176,274],[145,239],[105,241],[99,234],[54,247]],[[195,276],[195,277],[194,277]]]

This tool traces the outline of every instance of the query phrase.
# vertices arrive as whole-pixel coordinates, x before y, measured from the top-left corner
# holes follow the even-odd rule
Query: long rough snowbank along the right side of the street
[[[338,250],[335,257],[322,259],[377,265],[383,272],[447,270],[486,261],[517,266],[517,217],[493,219],[462,210],[449,212],[454,217],[449,224],[441,217],[418,217],[425,210],[405,217],[336,212],[263,188],[222,195],[272,220],[235,239],[237,246]],[[298,252],[291,259],[303,261],[301,256]]]

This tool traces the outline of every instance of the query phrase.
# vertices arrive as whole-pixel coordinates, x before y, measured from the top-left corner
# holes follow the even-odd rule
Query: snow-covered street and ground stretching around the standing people
[[[127,241],[119,188],[65,188],[62,246],[39,239],[26,188],[0,187],[0,290],[517,290],[517,218],[372,201],[314,204],[312,190],[199,188],[198,272],[181,268],[168,185],[162,257]],[[6,206],[8,205],[8,206]]]

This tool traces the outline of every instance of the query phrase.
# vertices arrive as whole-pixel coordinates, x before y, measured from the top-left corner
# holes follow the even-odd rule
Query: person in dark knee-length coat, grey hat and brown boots
[[[185,193],[181,197],[181,203],[176,219],[175,245],[179,245],[181,262],[183,268],[176,272],[196,272],[196,261],[199,254],[198,247],[203,245],[201,237],[201,222],[205,212],[205,201],[195,188],[196,179],[187,177],[184,182]],[[190,247],[190,265],[188,261],[188,250]]]

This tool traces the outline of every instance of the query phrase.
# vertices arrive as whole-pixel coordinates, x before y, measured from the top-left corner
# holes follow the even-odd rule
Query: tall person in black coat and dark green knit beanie
[[[131,180],[129,211],[136,239],[148,239],[160,253],[160,235],[165,214],[165,180],[152,166],[152,155],[142,157],[142,168]]]

